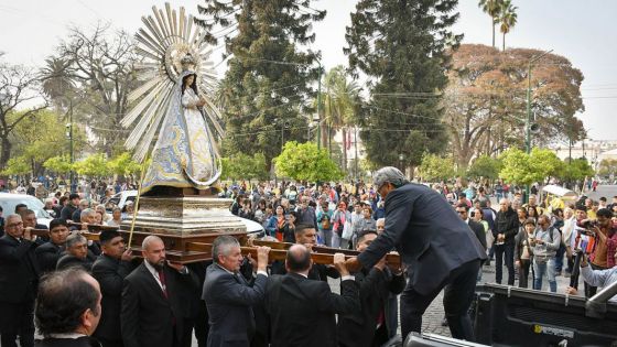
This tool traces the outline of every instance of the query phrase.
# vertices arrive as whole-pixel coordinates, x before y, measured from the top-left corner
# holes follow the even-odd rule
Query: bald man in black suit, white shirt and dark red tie
[[[123,282],[120,327],[126,347],[176,347],[182,344],[181,285],[197,285],[184,265],[165,260],[156,236],[142,242],[143,262]]]

